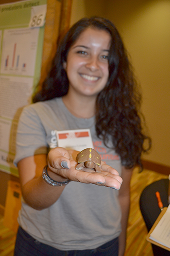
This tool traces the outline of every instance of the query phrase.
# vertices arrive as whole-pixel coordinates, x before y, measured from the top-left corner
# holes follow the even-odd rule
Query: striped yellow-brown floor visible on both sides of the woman
[[[149,170],[138,173],[135,169],[131,180],[131,207],[127,229],[125,256],[153,256],[152,247],[146,241],[147,229],[139,209],[139,198],[143,189],[152,182],[168,178]],[[4,227],[0,216],[0,256],[13,256],[16,234]]]

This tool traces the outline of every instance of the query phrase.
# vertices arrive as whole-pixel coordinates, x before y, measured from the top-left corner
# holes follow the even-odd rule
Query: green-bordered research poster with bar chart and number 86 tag
[[[15,176],[17,123],[40,79],[46,12],[47,0],[0,4],[0,170]]]

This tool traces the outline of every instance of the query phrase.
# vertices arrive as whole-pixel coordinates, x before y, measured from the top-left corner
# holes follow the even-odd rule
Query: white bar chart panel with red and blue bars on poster
[[[1,74],[34,76],[39,28],[4,30]]]

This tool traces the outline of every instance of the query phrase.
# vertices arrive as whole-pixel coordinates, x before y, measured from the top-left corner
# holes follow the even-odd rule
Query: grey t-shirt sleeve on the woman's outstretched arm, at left
[[[16,156],[14,164],[23,158],[48,153],[46,132],[38,116],[31,105],[25,107],[19,118],[16,139]]]

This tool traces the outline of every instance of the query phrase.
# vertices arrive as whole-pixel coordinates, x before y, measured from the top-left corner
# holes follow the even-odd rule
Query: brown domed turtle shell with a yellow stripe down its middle
[[[94,150],[93,148],[86,148],[86,149],[82,150],[77,155],[76,160],[78,163],[83,163],[85,161],[91,160],[95,164],[97,164],[99,166],[101,165],[101,157],[97,153],[97,151]]]

